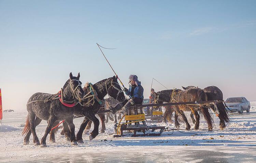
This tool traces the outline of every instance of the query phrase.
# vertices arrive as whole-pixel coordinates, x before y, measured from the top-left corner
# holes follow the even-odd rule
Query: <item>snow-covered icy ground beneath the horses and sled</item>
[[[100,133],[93,141],[84,135],[85,143],[78,146],[71,146],[60,132],[56,143],[46,142],[47,148],[23,145],[21,132],[26,116],[27,112],[3,113],[0,162],[256,162],[256,101],[251,102],[250,113],[231,113],[232,122],[225,130],[219,130],[219,120],[214,117],[212,132],[181,130],[183,133],[164,132],[155,137],[113,138],[114,123],[108,123],[105,133]],[[82,118],[74,120],[76,132],[81,121]],[[191,120],[190,124],[193,129]],[[152,125],[173,128],[173,124]],[[46,121],[42,121],[37,127],[39,140],[46,126]],[[181,124],[181,129],[184,128]],[[207,129],[203,118],[200,129]]]

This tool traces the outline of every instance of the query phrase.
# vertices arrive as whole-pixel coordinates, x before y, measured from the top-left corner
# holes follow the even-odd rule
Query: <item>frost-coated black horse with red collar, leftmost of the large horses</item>
[[[67,103],[81,102],[84,97],[84,91],[81,87],[81,81],[79,81],[80,74],[77,77],[73,77],[70,72],[70,79],[67,80],[63,86],[63,98],[62,100]],[[47,94],[47,93],[35,93],[33,94],[27,103],[28,116],[26,120],[26,125],[23,129],[23,135],[26,134],[24,138],[24,145],[29,144],[29,137],[31,132],[33,134],[34,145],[40,145],[41,147],[46,147],[46,137],[51,131],[53,125],[56,121],[65,120],[71,131],[71,144],[77,145],[75,138],[75,126],[73,124],[73,112],[74,110],[80,110],[81,105],[77,104],[73,107],[66,107],[62,104],[60,99],[55,99],[57,94]],[[42,119],[48,121],[48,126],[45,130],[45,134],[39,143],[37,134],[35,133],[35,127],[40,124]]]

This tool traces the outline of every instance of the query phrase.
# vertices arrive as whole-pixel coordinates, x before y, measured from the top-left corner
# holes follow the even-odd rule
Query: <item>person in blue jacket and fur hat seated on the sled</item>
[[[129,76],[129,89],[125,88],[125,94],[130,97],[129,101],[123,107],[123,112],[127,113],[131,104],[140,104],[143,102],[144,88],[141,85],[141,82],[138,81],[136,75]],[[122,109],[122,104],[118,103],[115,107],[109,108],[113,113],[116,113],[118,110]]]

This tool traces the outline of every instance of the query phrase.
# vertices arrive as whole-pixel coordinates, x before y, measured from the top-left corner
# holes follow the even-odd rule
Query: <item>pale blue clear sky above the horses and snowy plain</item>
[[[136,74],[168,88],[215,85],[224,99],[256,100],[256,1],[0,0],[3,110],[26,111],[36,92],[55,94],[69,79],[96,83]],[[153,82],[155,91],[164,88]]]

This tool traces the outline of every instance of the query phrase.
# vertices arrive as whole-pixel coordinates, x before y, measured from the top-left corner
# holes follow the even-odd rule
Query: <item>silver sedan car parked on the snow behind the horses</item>
[[[230,97],[227,98],[225,103],[228,107],[226,108],[228,112],[243,113],[244,110],[246,110],[247,113],[250,112],[251,104],[245,97]]]

